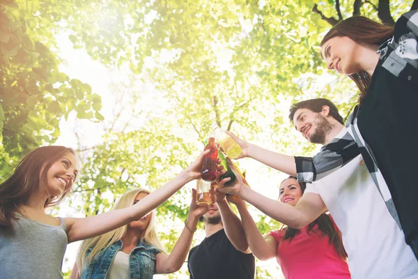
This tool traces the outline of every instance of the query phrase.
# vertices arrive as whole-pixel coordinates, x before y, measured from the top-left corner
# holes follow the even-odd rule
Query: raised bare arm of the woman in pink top
[[[242,227],[254,256],[262,261],[275,257],[277,254],[276,239],[273,236],[263,237],[242,199],[237,198],[234,203],[240,212]]]

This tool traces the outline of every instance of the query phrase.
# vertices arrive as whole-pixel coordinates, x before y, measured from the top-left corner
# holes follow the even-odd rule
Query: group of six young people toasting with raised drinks
[[[254,256],[276,257],[285,278],[418,278],[417,37],[416,10],[394,28],[365,17],[336,24],[321,54],[361,92],[348,121],[324,98],[291,107],[295,128],[323,144],[312,158],[268,151],[229,133],[241,146],[240,158],[291,175],[281,183],[280,201],[246,187],[240,175],[228,186],[229,179],[217,179],[211,206],[197,206],[193,190],[169,254],[155,232],[154,209],[200,177],[208,151],[153,193],[132,190],[112,211],[88,218],[45,213],[72,188],[75,152],[63,146],[32,151],[0,185],[1,278],[61,278],[65,248],[79,240],[72,278],[152,278],[180,269],[187,254],[191,278],[254,278]],[[287,227],[263,236],[245,202]],[[189,251],[199,218],[206,239]]]

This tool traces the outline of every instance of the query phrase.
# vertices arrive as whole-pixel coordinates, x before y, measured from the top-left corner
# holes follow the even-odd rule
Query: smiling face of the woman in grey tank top
[[[74,154],[66,152],[52,163],[47,171],[47,190],[50,196],[58,197],[70,190],[78,172]]]

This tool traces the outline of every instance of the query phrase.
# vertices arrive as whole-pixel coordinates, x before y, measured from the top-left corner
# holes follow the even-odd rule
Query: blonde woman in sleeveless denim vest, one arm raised
[[[125,209],[149,195],[147,190],[131,190],[116,202]],[[70,278],[153,278],[158,273],[178,271],[185,262],[199,217],[206,207],[196,204],[192,190],[189,215],[180,238],[167,255],[155,231],[155,211],[107,234],[82,242]]]

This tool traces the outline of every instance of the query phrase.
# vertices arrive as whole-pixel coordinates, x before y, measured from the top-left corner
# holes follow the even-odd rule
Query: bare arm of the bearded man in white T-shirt
[[[232,169],[236,174],[236,169],[234,167],[232,167]],[[222,176],[224,173],[224,171],[220,172],[219,176]],[[320,216],[320,214],[327,211],[323,199],[321,199],[320,195],[314,193],[304,194],[296,206],[291,206],[275,199],[265,197],[245,186],[238,174],[236,174],[235,181],[228,186],[224,186],[224,183],[229,180],[229,178],[226,178],[219,181],[219,190],[231,195],[237,195],[246,202],[256,206],[256,208],[260,209],[274,220],[295,229],[300,229],[309,223],[312,223]]]

